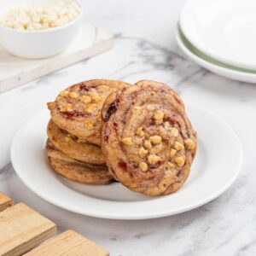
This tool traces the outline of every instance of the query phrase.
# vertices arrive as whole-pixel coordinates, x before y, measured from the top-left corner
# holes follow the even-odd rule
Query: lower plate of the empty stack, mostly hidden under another
[[[256,72],[233,67],[205,55],[201,52],[201,50],[197,49],[193,44],[191,44],[187,38],[185,38],[179,26],[177,26],[176,31],[176,41],[179,48],[185,55],[189,57],[191,61],[195,61],[195,63],[199,64],[201,67],[207,68],[208,70],[212,71],[212,73],[217,73],[218,75],[224,76],[228,79],[253,84],[256,83]]]

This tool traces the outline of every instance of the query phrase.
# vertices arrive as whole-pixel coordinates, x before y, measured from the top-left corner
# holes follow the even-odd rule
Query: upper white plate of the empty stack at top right
[[[255,0],[189,0],[183,6],[180,26],[205,54],[256,70]]]

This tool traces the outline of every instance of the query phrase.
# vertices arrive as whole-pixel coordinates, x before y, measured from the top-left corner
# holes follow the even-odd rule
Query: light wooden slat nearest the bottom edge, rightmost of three
[[[26,256],[108,256],[109,253],[94,242],[67,230],[61,235],[46,241],[39,247],[25,254]]]

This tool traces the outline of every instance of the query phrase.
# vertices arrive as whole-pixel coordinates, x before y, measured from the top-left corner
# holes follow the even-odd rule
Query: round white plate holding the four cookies
[[[11,160],[29,189],[72,212],[99,218],[143,219],[189,211],[212,201],[235,181],[241,166],[241,146],[234,131],[217,116],[195,105],[189,105],[187,111],[198,132],[198,151],[189,179],[172,195],[149,197],[119,183],[74,183],[52,172],[44,151],[47,110],[17,131]]]

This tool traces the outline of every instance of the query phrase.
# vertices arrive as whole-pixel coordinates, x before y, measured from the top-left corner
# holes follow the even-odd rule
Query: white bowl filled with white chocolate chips
[[[61,53],[79,30],[77,0],[0,1],[0,47],[22,58]]]

